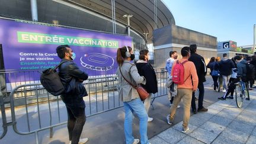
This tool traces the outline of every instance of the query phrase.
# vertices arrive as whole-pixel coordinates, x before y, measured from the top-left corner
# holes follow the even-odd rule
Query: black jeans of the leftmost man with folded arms
[[[69,140],[71,140],[72,144],[77,144],[86,120],[85,108],[66,107],[66,109],[68,112]]]

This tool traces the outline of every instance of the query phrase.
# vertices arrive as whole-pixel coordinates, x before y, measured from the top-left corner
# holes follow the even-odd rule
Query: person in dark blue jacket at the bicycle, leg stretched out
[[[223,95],[223,97],[220,97],[219,100],[226,100],[226,98],[231,98],[233,99],[233,95],[230,95],[229,97],[227,97],[229,95],[230,92],[232,92],[235,87],[236,87],[236,82],[239,81],[243,81],[247,83],[247,73],[249,71],[249,69],[247,68],[248,63],[247,60],[242,59],[241,56],[235,56],[234,57],[235,62],[237,63],[237,76],[236,79],[234,79],[228,86],[228,91],[225,92],[225,94]],[[248,84],[246,85],[246,87],[248,88]],[[245,100],[249,100],[248,98],[245,98]]]

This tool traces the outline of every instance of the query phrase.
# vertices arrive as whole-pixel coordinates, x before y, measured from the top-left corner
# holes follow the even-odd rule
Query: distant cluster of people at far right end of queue
[[[253,88],[252,86],[255,81],[256,53],[254,53],[254,56],[248,56],[246,58],[242,55],[236,55],[232,57],[232,59],[228,59],[228,55],[224,53],[223,59],[218,59],[220,59],[220,57],[212,57],[207,68],[211,70],[210,75],[212,75],[214,81],[215,91],[216,88],[220,89],[220,87],[222,87],[220,84],[223,83],[222,92],[225,94],[219,97],[219,100],[226,100],[226,98],[233,99],[233,93],[236,87],[235,84],[239,81],[243,81],[247,89],[251,90]],[[218,79],[219,85],[217,83]],[[245,100],[249,100],[249,97],[245,98]]]

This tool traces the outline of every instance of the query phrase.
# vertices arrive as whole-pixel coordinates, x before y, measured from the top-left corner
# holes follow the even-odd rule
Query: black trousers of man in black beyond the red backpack
[[[203,108],[203,97],[204,97],[204,85],[203,82],[199,82],[199,85],[197,87],[199,89],[199,107],[198,109]],[[192,100],[191,100],[191,107],[192,110],[196,110],[196,100],[195,100],[195,93],[192,94]]]

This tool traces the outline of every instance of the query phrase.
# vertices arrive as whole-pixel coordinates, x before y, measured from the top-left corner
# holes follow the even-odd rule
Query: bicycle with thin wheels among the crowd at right
[[[236,82],[236,88],[235,88],[235,100],[236,105],[238,108],[242,107],[242,103],[245,100],[245,98],[248,96],[249,98],[249,89],[248,89],[248,83],[239,81]]]

